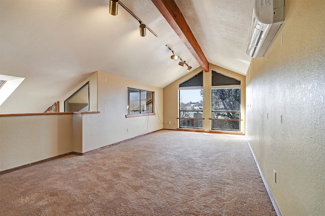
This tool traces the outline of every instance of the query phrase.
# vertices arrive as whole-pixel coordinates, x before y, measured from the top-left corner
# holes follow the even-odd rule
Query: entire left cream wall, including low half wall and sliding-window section
[[[97,111],[98,105],[99,114],[0,117],[0,171],[70,152],[84,153],[163,128],[162,88],[102,72],[88,81],[91,111]],[[156,115],[125,118],[127,87],[154,92]]]

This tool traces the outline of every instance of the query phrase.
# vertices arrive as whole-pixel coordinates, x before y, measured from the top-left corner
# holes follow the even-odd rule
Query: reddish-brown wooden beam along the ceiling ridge
[[[209,62],[197,39],[194,37],[174,0],[151,0],[167,22],[172,26],[188,50],[197,59],[204,71],[209,71]]]

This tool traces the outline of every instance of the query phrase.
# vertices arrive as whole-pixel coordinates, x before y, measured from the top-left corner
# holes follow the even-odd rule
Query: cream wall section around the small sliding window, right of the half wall
[[[153,91],[156,115],[125,118],[127,87]],[[163,129],[163,89],[98,72],[98,111],[82,116],[83,152]]]

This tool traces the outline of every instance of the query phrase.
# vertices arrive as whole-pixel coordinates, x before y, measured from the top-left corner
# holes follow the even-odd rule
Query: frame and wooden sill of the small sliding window
[[[129,90],[134,90],[134,91],[139,91],[139,113],[129,113],[129,104],[130,104],[130,96],[129,96]],[[151,98],[151,106],[152,106],[152,109],[151,109],[151,112],[142,112],[142,105],[141,104],[142,102],[142,98],[141,98],[141,95],[142,93],[144,92],[149,92],[151,93],[152,95],[152,98]],[[149,100],[150,101],[150,100]],[[148,102],[148,101],[146,101]],[[137,88],[133,88],[133,87],[127,87],[127,114],[125,115],[126,118],[131,118],[131,117],[137,117],[137,116],[151,116],[151,115],[155,115],[154,113],[154,92],[153,91],[148,91],[148,90],[143,90],[143,89],[137,89]]]

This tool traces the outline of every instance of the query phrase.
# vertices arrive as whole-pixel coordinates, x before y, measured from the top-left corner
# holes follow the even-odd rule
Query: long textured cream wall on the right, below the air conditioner
[[[325,215],[325,1],[285,6],[246,76],[247,138],[282,215]]]

